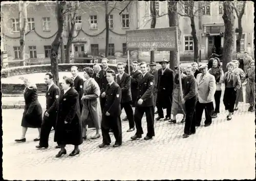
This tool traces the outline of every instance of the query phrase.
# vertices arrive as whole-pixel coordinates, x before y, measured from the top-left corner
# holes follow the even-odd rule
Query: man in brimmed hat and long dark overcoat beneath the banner
[[[157,111],[158,117],[156,120],[164,118],[163,109],[166,109],[166,117],[164,121],[170,120],[170,113],[172,111],[173,89],[174,89],[174,71],[167,67],[168,60],[163,59],[159,62],[162,69],[158,70],[157,81]]]

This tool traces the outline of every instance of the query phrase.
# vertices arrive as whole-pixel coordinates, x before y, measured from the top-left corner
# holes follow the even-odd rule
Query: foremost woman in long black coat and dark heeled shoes
[[[82,144],[82,123],[79,106],[79,95],[73,87],[72,78],[63,77],[62,90],[59,99],[58,117],[55,127],[54,142],[60,145],[56,157],[67,154],[66,145],[74,145],[74,150],[69,154],[79,154],[78,145]]]

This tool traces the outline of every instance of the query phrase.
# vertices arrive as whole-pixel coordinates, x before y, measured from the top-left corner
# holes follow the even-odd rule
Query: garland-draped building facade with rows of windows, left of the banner
[[[127,2],[118,2],[109,16],[109,56],[120,53],[124,58],[126,51],[126,30],[137,29],[137,5],[129,5],[121,14]],[[1,7],[5,15],[4,39],[9,60],[22,59],[19,49],[18,5],[7,4]],[[112,6],[108,7],[111,11]],[[30,3],[27,7],[28,32],[25,38],[25,59],[31,61],[50,62],[51,44],[57,33],[55,5],[52,3]],[[63,43],[66,50],[68,16],[65,16]],[[2,32],[3,33],[3,32]],[[105,54],[105,7],[104,3],[91,2],[90,5],[79,3],[76,17],[74,38],[71,50],[75,57],[81,57],[84,52],[98,56]],[[66,53],[65,53],[66,54]]]

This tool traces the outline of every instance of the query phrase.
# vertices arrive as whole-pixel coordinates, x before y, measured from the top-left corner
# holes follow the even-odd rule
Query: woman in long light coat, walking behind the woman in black
[[[91,139],[100,138],[100,123],[101,123],[101,108],[100,108],[100,88],[98,83],[94,80],[93,69],[86,67],[83,69],[83,76],[86,81],[83,84],[83,108],[82,108],[82,127],[83,139],[87,139],[87,125],[88,127],[95,127],[96,134]]]

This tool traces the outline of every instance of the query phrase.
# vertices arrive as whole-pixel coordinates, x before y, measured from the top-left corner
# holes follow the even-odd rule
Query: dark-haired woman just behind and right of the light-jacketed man
[[[215,99],[215,111],[211,118],[217,118],[220,113],[220,102],[221,102],[221,84],[224,82],[224,73],[221,69],[220,59],[215,58],[212,61],[212,67],[208,70],[209,74],[213,75],[216,80],[216,92],[214,94]]]

